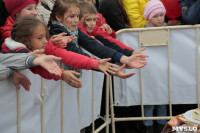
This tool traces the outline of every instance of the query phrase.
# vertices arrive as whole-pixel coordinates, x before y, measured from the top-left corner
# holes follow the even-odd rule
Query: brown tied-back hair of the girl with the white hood
[[[38,25],[45,25],[44,22],[40,21],[37,18],[33,17],[22,17],[15,21],[12,31],[11,38],[16,42],[20,42],[25,44],[30,50],[32,50],[32,46],[30,44],[30,38]],[[47,35],[48,30],[46,27]]]

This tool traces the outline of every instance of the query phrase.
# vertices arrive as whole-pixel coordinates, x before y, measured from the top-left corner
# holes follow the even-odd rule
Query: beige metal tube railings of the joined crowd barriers
[[[162,119],[171,119],[172,116],[172,102],[171,102],[171,75],[170,75],[170,44],[169,44],[169,37],[170,37],[170,30],[171,29],[183,29],[183,28],[196,28],[196,62],[197,62],[197,94],[199,94],[199,27],[200,25],[194,25],[194,26],[171,26],[171,27],[159,27],[159,28],[138,28],[138,29],[124,29],[117,32],[117,34],[122,32],[131,32],[131,31],[139,31],[139,47],[149,47],[149,46],[155,46],[155,45],[145,45],[144,38],[146,35],[143,35],[146,31],[161,31],[163,33],[166,33],[166,42],[164,45],[168,46],[168,77],[169,77],[169,116],[166,117],[144,117],[144,105],[143,105],[143,87],[142,87],[142,69],[140,69],[140,88],[141,88],[141,111],[142,116],[141,117],[126,117],[126,118],[116,118],[114,115],[114,104],[113,104],[113,92],[112,92],[112,80],[111,77],[106,77],[106,115],[105,115],[105,122],[95,129],[95,118],[94,118],[94,72],[92,72],[92,132],[98,133],[103,128],[106,128],[106,133],[109,133],[109,125],[112,126],[112,133],[115,133],[115,122],[119,121],[134,121],[134,120],[162,120]],[[148,34],[147,34],[148,35]],[[142,37],[144,36],[144,37]],[[159,42],[160,43],[160,42]],[[161,44],[163,45],[163,44]],[[61,133],[64,133],[64,89],[63,89],[63,81],[61,81]],[[44,88],[44,80],[41,80],[41,88],[42,91]],[[79,107],[79,120],[80,120],[80,89],[78,89],[78,107]],[[44,130],[44,98],[45,96],[42,95],[42,115],[41,115],[41,132],[45,133]],[[109,101],[110,105],[109,106]],[[199,107],[199,95],[197,97],[197,104]],[[21,133],[21,104],[20,104],[20,90],[17,90],[17,132]],[[111,109],[111,114],[109,114],[109,109]],[[111,115],[111,117],[110,117]]]

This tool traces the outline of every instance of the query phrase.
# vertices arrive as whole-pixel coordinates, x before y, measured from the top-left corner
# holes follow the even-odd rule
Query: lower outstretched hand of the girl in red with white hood
[[[72,87],[75,88],[81,88],[82,87],[82,82],[80,79],[76,77],[76,75],[80,75],[80,73],[75,72],[75,71],[63,71],[62,77],[63,80],[71,85]]]

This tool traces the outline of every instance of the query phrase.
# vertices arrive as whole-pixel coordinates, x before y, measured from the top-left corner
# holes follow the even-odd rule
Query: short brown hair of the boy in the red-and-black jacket
[[[97,10],[94,7],[94,5],[88,2],[79,2],[79,5],[80,5],[80,18],[82,18],[83,15],[86,13],[97,14]]]

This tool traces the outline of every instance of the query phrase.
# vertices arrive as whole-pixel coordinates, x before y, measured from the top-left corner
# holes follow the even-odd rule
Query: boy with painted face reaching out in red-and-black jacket
[[[136,53],[141,53],[145,48],[134,51],[131,47],[126,46],[121,41],[116,40],[108,35],[107,32],[101,30],[96,23],[97,11],[87,2],[79,2],[80,4],[80,17],[79,29],[89,36],[94,36],[95,39],[100,41],[103,45],[113,48],[118,52],[131,56]]]

